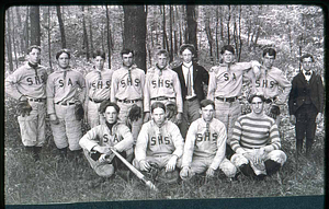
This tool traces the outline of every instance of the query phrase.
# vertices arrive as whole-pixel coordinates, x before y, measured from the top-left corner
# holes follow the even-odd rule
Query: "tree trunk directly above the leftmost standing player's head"
[[[39,7],[31,5],[31,45],[41,46]]]

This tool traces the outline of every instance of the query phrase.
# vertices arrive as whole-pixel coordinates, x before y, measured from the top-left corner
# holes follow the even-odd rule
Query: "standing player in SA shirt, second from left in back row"
[[[81,118],[76,116],[76,106],[84,103],[86,83],[80,72],[71,69],[70,53],[61,49],[56,54],[58,70],[47,81],[47,112],[49,115],[54,141],[61,155],[67,155],[67,148],[78,154],[81,150]],[[78,89],[81,94],[78,98]]]

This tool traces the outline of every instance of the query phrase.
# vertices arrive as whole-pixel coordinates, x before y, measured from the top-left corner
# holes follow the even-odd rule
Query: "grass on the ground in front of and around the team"
[[[47,127],[47,144],[43,148],[39,162],[23,149],[19,124],[14,115],[14,102],[5,98],[5,205],[42,205],[58,202],[87,202],[112,200],[154,199],[212,199],[313,196],[325,194],[325,128],[320,126],[311,160],[295,158],[294,127],[287,117],[282,118],[282,148],[287,162],[280,173],[264,181],[253,181],[243,175],[230,182],[224,176],[214,179],[202,177],[192,183],[177,185],[157,184],[159,193],[152,193],[136,177],[128,182],[114,178],[91,188],[97,174],[81,155],[77,162],[61,160]]]

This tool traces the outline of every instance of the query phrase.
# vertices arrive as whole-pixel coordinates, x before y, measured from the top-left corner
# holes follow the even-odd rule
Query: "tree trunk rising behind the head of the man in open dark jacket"
[[[195,13],[195,5],[186,5],[186,15],[188,15],[188,40],[186,43],[193,44],[195,50],[197,51],[197,38],[196,38],[196,31],[197,31],[197,23],[196,23],[196,13]],[[197,54],[194,55],[197,58]]]

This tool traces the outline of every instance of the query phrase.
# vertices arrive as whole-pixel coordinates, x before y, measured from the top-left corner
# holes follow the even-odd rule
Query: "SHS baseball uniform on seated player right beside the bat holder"
[[[172,155],[178,156],[177,167],[181,166],[184,140],[175,124],[166,120],[158,127],[154,120],[143,125],[136,148],[134,166],[139,169],[139,162],[157,163],[159,169],[164,167]]]

